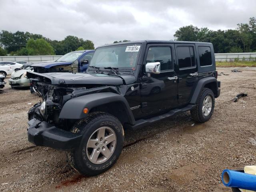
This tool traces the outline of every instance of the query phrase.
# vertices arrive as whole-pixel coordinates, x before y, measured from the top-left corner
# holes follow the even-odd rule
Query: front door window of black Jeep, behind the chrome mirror
[[[146,63],[160,62],[161,71],[172,70],[172,52],[170,47],[150,47]]]

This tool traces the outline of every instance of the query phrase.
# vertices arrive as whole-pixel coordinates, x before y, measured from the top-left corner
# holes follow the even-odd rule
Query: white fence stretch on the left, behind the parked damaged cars
[[[42,61],[57,60],[62,55],[42,55],[42,56],[0,56],[0,61],[26,61],[29,63],[38,63]]]

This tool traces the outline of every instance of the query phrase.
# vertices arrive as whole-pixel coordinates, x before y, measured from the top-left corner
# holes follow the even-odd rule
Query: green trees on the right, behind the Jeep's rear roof
[[[174,34],[178,41],[211,42],[215,53],[256,52],[256,18],[237,24],[236,29],[209,30],[193,25],[179,28]]]

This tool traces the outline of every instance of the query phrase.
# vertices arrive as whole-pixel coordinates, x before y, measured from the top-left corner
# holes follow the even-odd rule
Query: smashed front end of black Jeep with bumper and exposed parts
[[[36,73],[28,74],[33,90],[42,98],[28,112],[28,140],[36,146],[58,150],[74,150],[82,135],[70,132],[78,119],[60,118],[64,104],[79,96],[98,92],[116,92],[115,86],[86,84],[51,84],[50,78]]]

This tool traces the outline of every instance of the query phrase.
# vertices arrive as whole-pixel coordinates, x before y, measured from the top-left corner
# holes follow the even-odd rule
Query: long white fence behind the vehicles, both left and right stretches
[[[62,55],[42,55],[42,56],[0,56],[0,61],[26,61],[38,63],[43,61],[57,60]],[[216,53],[215,61],[256,61],[256,52],[254,53]]]

